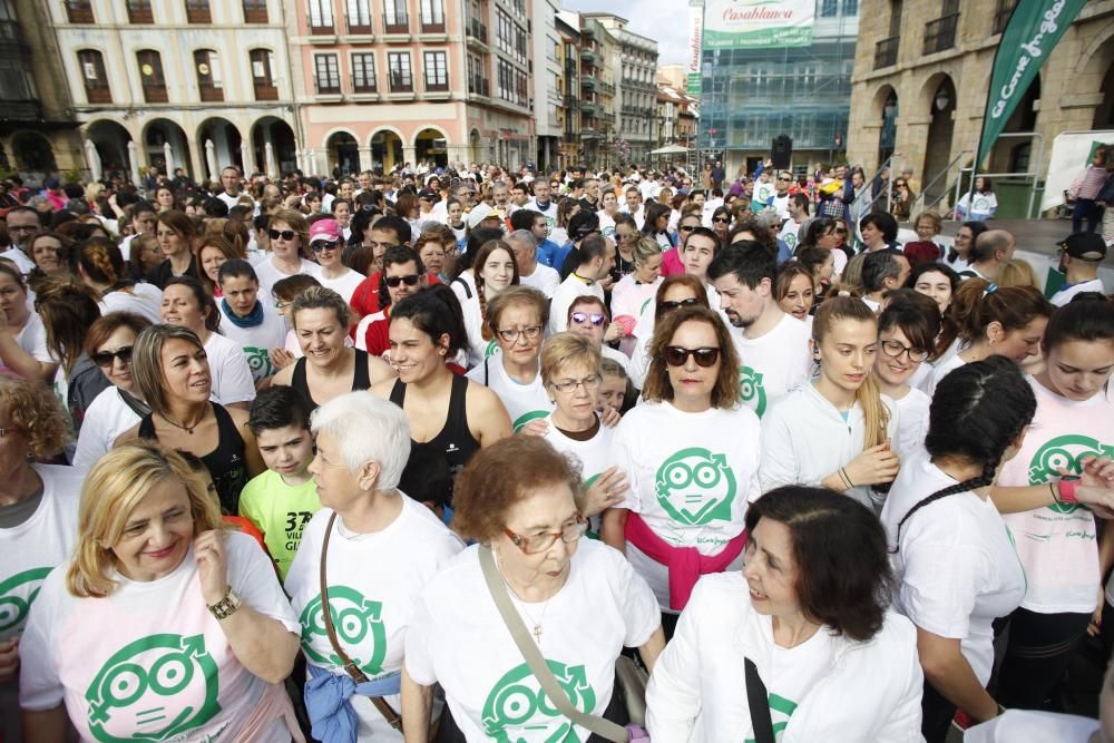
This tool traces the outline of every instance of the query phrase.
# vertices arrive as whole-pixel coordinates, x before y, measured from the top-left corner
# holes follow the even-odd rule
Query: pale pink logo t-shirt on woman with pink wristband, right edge
[[[1114,393],[1075,402],[1035,378],[1037,412],[1025,441],[1001,468],[1000,486],[1057,482],[1059,469],[1078,475],[1088,456],[1114,459]],[[1003,515],[1014,532],[1028,590],[1022,606],[1039,614],[1089,614],[1102,580],[1095,517],[1084,506],[1053,505]]]

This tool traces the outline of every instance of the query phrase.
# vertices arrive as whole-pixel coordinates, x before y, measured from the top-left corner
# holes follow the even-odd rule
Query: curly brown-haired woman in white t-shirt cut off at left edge
[[[0,737],[22,740],[20,634],[42,580],[77,537],[81,470],[39,465],[58,456],[69,417],[50,388],[0,374]]]

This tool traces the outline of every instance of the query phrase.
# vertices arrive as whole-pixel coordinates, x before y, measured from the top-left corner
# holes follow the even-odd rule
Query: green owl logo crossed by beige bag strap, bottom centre
[[[546,663],[573,706],[590,713],[596,707],[596,692],[588,683],[584,666],[566,666],[549,659]],[[516,729],[528,732],[529,736],[512,732]],[[488,694],[483,703],[483,732],[498,743],[527,740],[582,743],[573,724],[549,702],[525,663],[507,672]]]

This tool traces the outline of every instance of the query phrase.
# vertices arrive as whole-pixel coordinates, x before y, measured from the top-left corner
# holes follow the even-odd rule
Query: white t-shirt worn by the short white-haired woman
[[[419,595],[463,549],[463,542],[432,511],[405,496],[401,500],[402,511],[385,529],[356,534],[338,517],[329,539],[325,569],[336,638],[371,680],[402,668],[403,644]],[[321,606],[321,545],[332,514],[323,508],[310,519],[285,587],[301,623],[306,661],[344,675],[329,643]],[[385,698],[401,712],[398,695]],[[353,696],[351,701],[360,718],[361,740],[402,740],[371,700]]]

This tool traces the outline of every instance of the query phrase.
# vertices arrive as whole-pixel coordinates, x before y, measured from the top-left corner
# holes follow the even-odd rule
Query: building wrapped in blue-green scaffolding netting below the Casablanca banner
[[[753,172],[773,140],[793,140],[804,175],[840,155],[851,108],[859,0],[817,0],[807,47],[704,49],[698,148],[727,174]]]

